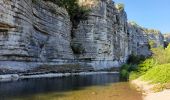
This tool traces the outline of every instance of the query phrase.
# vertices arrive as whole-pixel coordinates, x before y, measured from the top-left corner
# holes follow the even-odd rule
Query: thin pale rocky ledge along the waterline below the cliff
[[[119,74],[119,72],[79,72],[79,73],[28,73],[28,74],[4,74],[0,75],[0,82],[16,81],[19,79],[31,79],[31,78],[55,78],[66,77],[75,75],[93,75],[93,74]]]

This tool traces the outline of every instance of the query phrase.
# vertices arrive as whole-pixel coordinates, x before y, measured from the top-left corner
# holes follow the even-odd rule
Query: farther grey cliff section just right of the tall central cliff
[[[128,27],[130,54],[139,56],[151,55],[147,33],[140,26],[131,23],[128,24]]]

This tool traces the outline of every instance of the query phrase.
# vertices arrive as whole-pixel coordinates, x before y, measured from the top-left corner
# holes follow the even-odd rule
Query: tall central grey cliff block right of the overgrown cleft
[[[84,51],[78,59],[90,59],[96,66],[113,67],[126,62],[128,53],[127,16],[111,0],[99,0],[91,8],[88,20],[75,30],[74,43]]]

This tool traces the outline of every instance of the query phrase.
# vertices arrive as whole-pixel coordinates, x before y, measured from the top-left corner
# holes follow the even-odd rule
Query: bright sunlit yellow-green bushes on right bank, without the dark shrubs
[[[153,55],[139,63],[136,70],[129,73],[129,80],[140,77],[144,81],[157,84],[153,88],[156,92],[163,90],[166,84],[170,83],[170,44],[165,49],[159,47],[151,50]]]

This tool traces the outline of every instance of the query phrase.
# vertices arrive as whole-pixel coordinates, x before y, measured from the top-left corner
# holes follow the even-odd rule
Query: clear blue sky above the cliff
[[[113,0],[125,4],[129,21],[170,33],[170,0]]]

